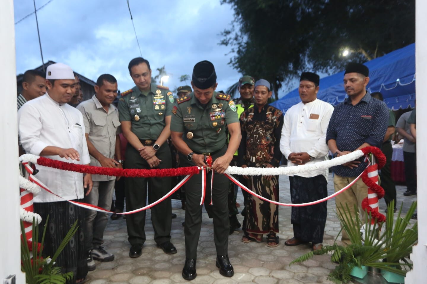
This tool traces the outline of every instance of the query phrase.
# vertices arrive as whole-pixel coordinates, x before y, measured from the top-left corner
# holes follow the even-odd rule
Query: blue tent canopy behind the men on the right
[[[415,107],[415,43],[364,63],[369,68],[370,92],[381,92],[390,109]],[[336,105],[345,98],[344,71],[320,79],[317,98]],[[298,88],[271,103],[286,112],[301,100]]]

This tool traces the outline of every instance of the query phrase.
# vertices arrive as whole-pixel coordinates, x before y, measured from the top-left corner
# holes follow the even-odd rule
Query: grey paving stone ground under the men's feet
[[[333,193],[333,177],[329,176],[328,193]],[[281,176],[280,201],[290,202],[289,179]],[[405,186],[397,186],[398,207],[403,203],[403,212],[407,212],[416,196],[405,197]],[[243,206],[243,196],[239,191],[237,201]],[[380,210],[384,210],[385,202],[380,200]],[[239,211],[243,209],[239,208]],[[146,215],[146,242],[143,245],[143,253],[139,258],[129,258],[129,242],[127,240],[126,221],[123,218],[109,220],[105,231],[106,250],[115,255],[114,261],[99,262],[96,270],[88,273],[89,284],[169,284],[186,283],[181,276],[181,270],[185,261],[184,249],[184,210],[181,209],[181,201],[172,201],[172,210],[178,215],[172,220],[172,242],[178,252],[175,255],[166,255],[156,247],[153,240],[154,232],[150,220],[150,212]],[[396,215],[397,213],[395,213]],[[234,232],[229,237],[228,255],[234,266],[234,276],[223,277],[215,266],[215,246],[213,244],[213,224],[203,210],[203,223],[200,232],[199,247],[197,251],[197,277],[192,284],[228,284],[228,283],[259,283],[259,284],[332,284],[328,281],[328,273],[335,265],[331,263],[328,255],[315,255],[315,257],[301,264],[289,266],[290,261],[309,252],[308,245],[296,247],[284,246],[284,241],[293,236],[290,223],[291,208],[279,208],[279,237],[278,247],[266,247],[266,242],[243,243],[242,231]],[[238,215],[239,221],[243,220]],[[326,221],[324,244],[333,244],[340,230],[339,221],[335,215],[335,201],[328,201],[328,219]]]

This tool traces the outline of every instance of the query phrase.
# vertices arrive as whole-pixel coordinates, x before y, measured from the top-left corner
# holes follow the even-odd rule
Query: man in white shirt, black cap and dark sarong
[[[313,164],[328,159],[326,130],[333,106],[317,99],[319,75],[301,74],[298,88],[301,103],[292,106],[284,116],[280,150],[288,166]],[[301,172],[289,177],[292,203],[316,201],[328,195],[328,170]],[[313,250],[322,248],[327,216],[326,201],[306,207],[292,207],[294,237],[285,242],[296,246],[311,242]]]

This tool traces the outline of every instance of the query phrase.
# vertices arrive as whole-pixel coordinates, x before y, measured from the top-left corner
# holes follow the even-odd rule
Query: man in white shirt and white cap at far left
[[[46,85],[48,92],[25,103],[18,111],[18,130],[23,148],[29,154],[40,155],[73,164],[91,162],[85,138],[82,113],[67,103],[76,89],[73,70],[55,63],[47,67]],[[84,212],[67,200],[83,198],[92,189],[90,174],[63,171],[37,166],[37,178],[53,195],[42,191],[34,197],[34,211],[41,215],[43,228],[49,215],[45,236],[44,254],[53,255],[62,239],[76,220],[79,228],[70,243],[56,260],[63,272],[73,272],[73,281],[84,280],[88,273],[83,241]],[[40,229],[39,232],[43,230]]]

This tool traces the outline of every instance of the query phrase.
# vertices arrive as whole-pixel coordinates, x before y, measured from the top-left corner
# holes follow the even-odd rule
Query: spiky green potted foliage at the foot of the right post
[[[405,258],[412,252],[412,246],[418,240],[417,222],[412,225],[409,223],[416,206],[416,202],[413,202],[403,218],[400,210],[394,222],[395,206],[394,202],[391,202],[387,208],[384,226],[376,220],[371,225],[370,214],[366,214],[365,222],[362,223],[358,214],[352,218],[347,204],[346,209],[341,206],[338,208],[337,216],[351,244],[339,246],[334,243],[332,246],[324,246],[321,250],[301,255],[290,264],[307,261],[313,255],[331,253],[331,261],[338,263],[338,266],[331,271],[329,279],[336,283],[347,283],[351,279],[351,270],[362,265],[406,275],[412,264]],[[384,231],[380,233],[379,229],[382,226]],[[360,232],[360,228],[364,229],[363,232]]]

